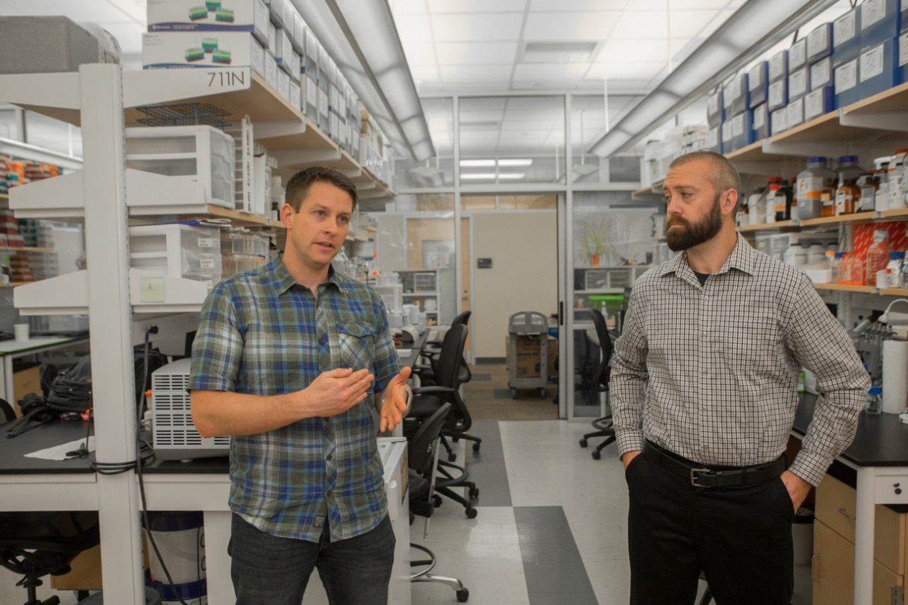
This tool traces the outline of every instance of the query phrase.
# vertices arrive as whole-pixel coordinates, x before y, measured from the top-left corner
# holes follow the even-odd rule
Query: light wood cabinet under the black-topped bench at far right
[[[826,475],[816,488],[814,605],[852,605],[854,599],[854,488]],[[893,587],[908,574],[906,519],[876,506],[873,531],[873,605],[892,605]]]

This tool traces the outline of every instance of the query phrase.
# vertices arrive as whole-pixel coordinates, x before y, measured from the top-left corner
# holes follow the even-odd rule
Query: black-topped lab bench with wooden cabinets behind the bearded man
[[[792,435],[803,439],[816,396],[804,393]],[[862,412],[854,441],[816,489],[814,603],[877,605],[908,577],[908,424]],[[894,599],[894,600],[893,600]]]

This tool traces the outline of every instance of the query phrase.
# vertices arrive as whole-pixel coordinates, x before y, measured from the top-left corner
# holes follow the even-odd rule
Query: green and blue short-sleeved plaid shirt
[[[262,531],[331,541],[385,517],[375,395],[400,370],[385,308],[368,286],[330,270],[311,291],[271,257],[218,283],[192,343],[190,389],[276,395],[305,389],[336,368],[369,368],[372,392],[349,411],[307,418],[231,441],[231,510]]]

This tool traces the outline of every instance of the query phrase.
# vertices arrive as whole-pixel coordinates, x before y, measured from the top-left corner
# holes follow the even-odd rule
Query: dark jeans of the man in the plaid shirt
[[[375,529],[331,542],[328,524],[319,543],[279,538],[234,514],[227,552],[237,605],[300,605],[313,568],[331,605],[387,605],[394,562],[388,517]]]

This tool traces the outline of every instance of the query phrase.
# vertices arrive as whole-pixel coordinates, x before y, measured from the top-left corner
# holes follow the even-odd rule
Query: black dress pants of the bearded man
[[[625,473],[631,605],[690,605],[700,570],[716,605],[788,605],[794,505],[778,477],[703,488],[638,455]]]

